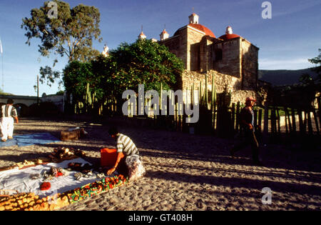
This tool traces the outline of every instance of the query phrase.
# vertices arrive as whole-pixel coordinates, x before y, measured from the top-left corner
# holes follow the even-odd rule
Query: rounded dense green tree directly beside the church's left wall
[[[123,43],[110,55],[107,80],[119,91],[126,88],[136,90],[138,84],[157,91],[161,89],[161,84],[164,89],[175,89],[184,69],[183,62],[166,46],[151,40]]]

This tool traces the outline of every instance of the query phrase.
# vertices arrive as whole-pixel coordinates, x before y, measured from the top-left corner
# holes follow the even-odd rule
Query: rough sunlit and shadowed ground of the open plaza
[[[59,131],[80,126],[86,139],[0,149],[0,167],[47,156],[57,146],[86,152],[99,163],[100,149],[115,147],[108,127],[85,122],[21,119],[14,134]],[[292,151],[287,146],[261,145],[264,166],[253,166],[245,149],[232,159],[230,146],[238,140],[181,132],[121,126],[138,146],[147,174],[61,210],[320,210],[321,151]],[[263,204],[264,187],[272,204]]]

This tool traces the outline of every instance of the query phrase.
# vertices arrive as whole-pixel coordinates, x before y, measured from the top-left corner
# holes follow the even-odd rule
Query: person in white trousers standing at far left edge
[[[19,124],[16,108],[13,106],[14,100],[8,99],[6,105],[1,106],[1,141],[6,139],[13,139],[14,134],[14,119]]]

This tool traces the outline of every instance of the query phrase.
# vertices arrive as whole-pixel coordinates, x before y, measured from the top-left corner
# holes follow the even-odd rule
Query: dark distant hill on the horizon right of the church
[[[302,74],[310,74],[313,79],[317,76],[311,68],[297,70],[259,70],[258,79],[270,82],[274,86],[280,86],[299,83]]]

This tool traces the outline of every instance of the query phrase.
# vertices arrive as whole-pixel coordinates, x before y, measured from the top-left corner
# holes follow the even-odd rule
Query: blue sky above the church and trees
[[[321,1],[277,0],[272,4],[272,19],[263,19],[263,0],[86,0],[68,1],[71,7],[78,4],[96,6],[101,12],[101,37],[93,47],[102,51],[108,44],[115,49],[121,42],[132,43],[143,25],[148,39],[159,39],[166,26],[172,36],[177,29],[188,24],[194,11],[199,23],[207,26],[215,36],[232,26],[233,33],[243,36],[260,48],[259,69],[305,69],[313,66],[307,59],[318,55],[321,48]],[[39,0],[0,0],[0,37],[4,49],[4,91],[11,94],[35,96],[34,85],[40,66],[52,65],[54,58],[40,56],[39,41],[25,44],[21,19],[30,17],[33,8],[43,6]],[[66,59],[58,59],[57,70],[66,66]],[[0,61],[0,68],[2,64]],[[2,72],[0,84],[2,89]],[[63,88],[62,88],[63,89]],[[55,94],[58,85],[40,84],[39,93]]]

